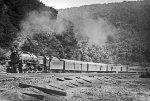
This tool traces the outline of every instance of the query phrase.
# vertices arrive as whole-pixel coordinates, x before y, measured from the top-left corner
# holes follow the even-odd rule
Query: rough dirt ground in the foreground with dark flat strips
[[[150,79],[139,75],[18,78],[0,82],[0,101],[150,101]],[[34,85],[60,93],[45,93]],[[63,95],[62,93],[66,93]]]

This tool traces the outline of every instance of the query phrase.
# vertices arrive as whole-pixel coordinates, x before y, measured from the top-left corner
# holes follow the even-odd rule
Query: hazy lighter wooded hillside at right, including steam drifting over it
[[[58,16],[71,20],[77,35],[87,36],[89,42],[94,42],[87,45],[88,42],[79,39],[87,58],[95,62],[108,59],[114,63],[148,64],[149,9],[149,0],[125,1],[63,9]]]

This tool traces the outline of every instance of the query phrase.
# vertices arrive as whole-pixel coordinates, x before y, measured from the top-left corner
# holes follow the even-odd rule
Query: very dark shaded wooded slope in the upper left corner
[[[1,51],[3,51],[3,49],[9,49],[21,34],[27,34],[22,33],[22,31],[25,29],[24,24],[27,22],[25,20],[29,18],[32,12],[36,13],[36,16],[42,15],[43,12],[48,12],[50,19],[56,19],[58,13],[57,10],[46,7],[39,0],[0,0]],[[32,14],[32,17],[33,16]],[[34,23],[31,22],[30,25],[31,24],[33,25]]]

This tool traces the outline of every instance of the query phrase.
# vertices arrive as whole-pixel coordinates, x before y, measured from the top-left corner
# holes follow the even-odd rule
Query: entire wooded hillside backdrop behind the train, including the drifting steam
[[[35,54],[149,65],[150,1],[55,10],[38,0],[0,1],[0,50],[14,43]],[[57,15],[58,13],[58,15]]]

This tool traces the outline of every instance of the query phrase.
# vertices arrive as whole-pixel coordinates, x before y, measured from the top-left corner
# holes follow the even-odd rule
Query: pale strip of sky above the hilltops
[[[79,7],[83,5],[91,4],[103,4],[111,2],[122,2],[122,1],[136,1],[136,0],[40,0],[46,6],[54,7],[55,9],[64,9],[70,7]]]

